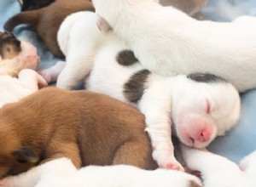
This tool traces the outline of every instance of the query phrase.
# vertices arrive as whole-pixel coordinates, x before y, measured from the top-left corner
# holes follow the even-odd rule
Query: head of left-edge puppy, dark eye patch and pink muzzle
[[[25,68],[37,70],[40,62],[37,48],[18,40],[13,34],[0,31],[0,73],[17,77]]]

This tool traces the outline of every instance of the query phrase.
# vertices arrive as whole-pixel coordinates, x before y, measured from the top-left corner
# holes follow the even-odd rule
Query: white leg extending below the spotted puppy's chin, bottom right
[[[241,170],[236,163],[207,150],[196,150],[181,145],[183,159],[189,169],[201,172],[205,187],[244,185]]]

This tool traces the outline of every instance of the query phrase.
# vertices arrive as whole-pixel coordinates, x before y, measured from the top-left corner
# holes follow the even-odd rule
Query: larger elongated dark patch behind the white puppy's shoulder
[[[123,93],[128,101],[137,103],[143,97],[149,75],[148,70],[138,71],[125,83]]]

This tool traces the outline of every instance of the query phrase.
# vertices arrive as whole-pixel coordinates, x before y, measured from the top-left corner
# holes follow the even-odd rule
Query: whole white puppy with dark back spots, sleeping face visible
[[[58,40],[67,64],[56,86],[72,89],[87,77],[87,89],[136,106],[145,115],[160,167],[183,170],[173,154],[172,133],[183,144],[202,148],[239,118],[240,97],[230,83],[208,74],[160,77],[145,70],[125,42],[112,32],[97,31],[94,13],[68,16]],[[53,77],[57,68],[52,68],[41,75]]]

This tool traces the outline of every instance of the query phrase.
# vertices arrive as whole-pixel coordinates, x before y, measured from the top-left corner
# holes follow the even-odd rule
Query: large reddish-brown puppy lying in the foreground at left
[[[144,117],[107,95],[43,88],[0,110],[0,178],[42,162],[156,168]]]

